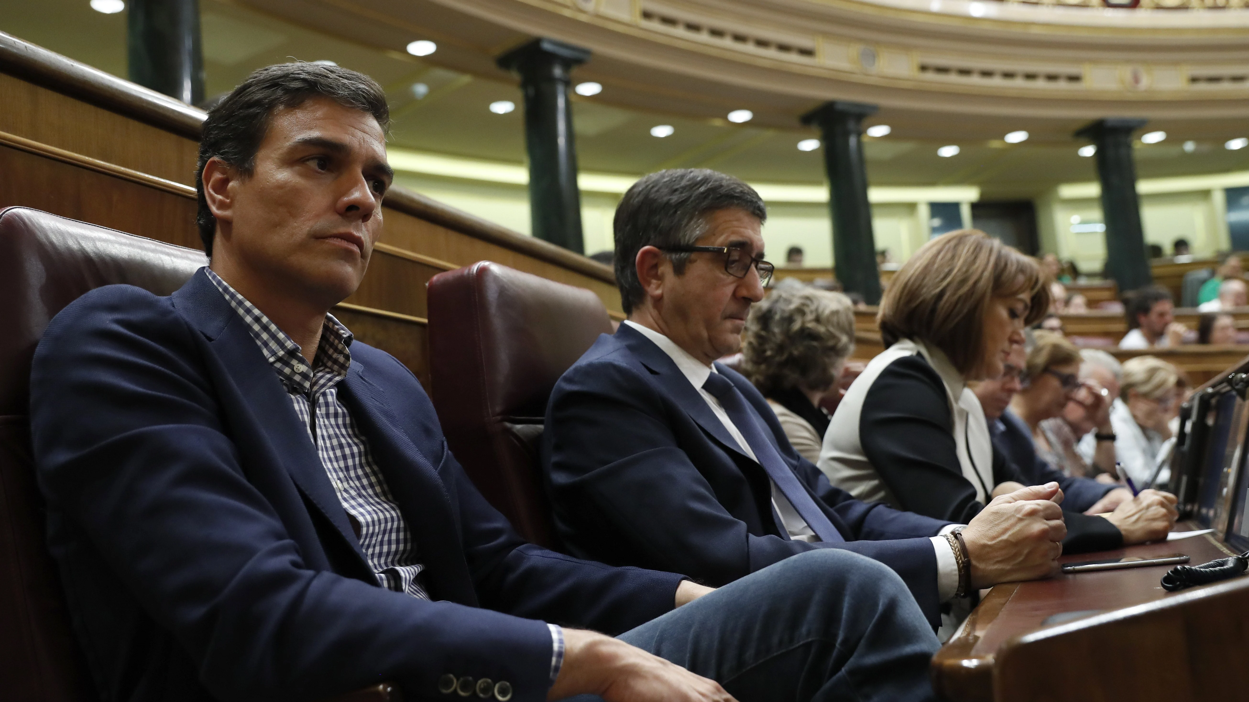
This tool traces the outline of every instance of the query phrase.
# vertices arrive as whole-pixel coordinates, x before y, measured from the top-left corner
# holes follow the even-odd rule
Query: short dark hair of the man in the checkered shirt
[[[363,74],[302,61],[276,64],[252,72],[217,102],[204,121],[200,158],[195,167],[195,193],[199,198],[195,223],[200,227],[205,253],[212,256],[217,219],[204,197],[204,166],[216,157],[250,176],[274,111],[299,107],[312,97],[328,97],[343,107],[368,112],[382,132],[390,127],[386,91]]]

